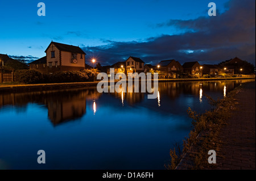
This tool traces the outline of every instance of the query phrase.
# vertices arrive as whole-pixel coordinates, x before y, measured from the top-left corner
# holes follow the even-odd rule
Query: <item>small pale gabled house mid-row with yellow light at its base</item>
[[[126,60],[126,71],[128,73],[141,73],[144,71],[144,62],[141,58],[129,57]]]

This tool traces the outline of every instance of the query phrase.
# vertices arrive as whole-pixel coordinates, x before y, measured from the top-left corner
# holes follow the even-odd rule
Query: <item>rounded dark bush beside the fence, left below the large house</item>
[[[19,83],[42,83],[43,75],[35,70],[16,70],[14,72],[15,81]]]

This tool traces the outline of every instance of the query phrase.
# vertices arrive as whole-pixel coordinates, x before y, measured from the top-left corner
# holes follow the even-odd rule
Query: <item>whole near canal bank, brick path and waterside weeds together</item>
[[[201,131],[181,155],[176,170],[195,169],[195,166],[197,169],[255,170],[255,82],[237,87],[232,94],[233,101],[226,109],[230,110],[230,117],[213,130]],[[219,106],[217,110],[219,108],[222,109]],[[216,164],[208,163],[210,149],[216,151]],[[203,161],[202,165],[198,161]]]

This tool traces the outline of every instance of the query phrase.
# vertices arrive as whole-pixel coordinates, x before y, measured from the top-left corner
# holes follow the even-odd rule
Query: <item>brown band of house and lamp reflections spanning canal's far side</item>
[[[170,100],[179,100],[181,95],[193,95],[199,98],[199,103],[203,103],[203,91],[204,95],[212,95],[214,98],[214,92],[223,91],[223,96],[226,96],[226,92],[233,90],[234,87],[241,85],[244,82],[250,82],[251,80],[236,80],[236,81],[208,81],[208,82],[160,82],[157,107],[162,107],[164,112],[170,111],[168,108],[172,108],[171,111],[178,109],[177,107],[188,107],[194,104],[194,100],[190,96],[184,99],[181,103],[172,103]],[[140,86],[140,85],[139,85]],[[135,87],[133,86],[135,90]],[[138,89],[138,87],[137,87]],[[141,90],[141,87],[139,87]],[[199,93],[198,93],[199,92]],[[144,104],[152,110],[155,110],[154,103],[151,104],[150,100],[147,100],[147,93],[139,92],[114,92],[109,93],[118,98],[121,102],[121,107],[133,106],[134,104]],[[160,95],[161,103],[160,103]],[[53,125],[58,125],[66,121],[77,120],[86,114],[86,101],[93,101],[93,113],[96,113],[96,100],[98,100],[102,94],[98,93],[96,89],[75,89],[75,90],[63,90],[63,91],[36,91],[36,92],[15,92],[11,94],[0,95],[0,110],[6,106],[13,106],[16,112],[26,112],[28,103],[42,104],[48,110],[48,117]],[[197,99],[198,100],[198,99]],[[125,104],[127,103],[127,105]],[[150,102],[150,104],[149,104]],[[177,110],[176,110],[177,111]]]

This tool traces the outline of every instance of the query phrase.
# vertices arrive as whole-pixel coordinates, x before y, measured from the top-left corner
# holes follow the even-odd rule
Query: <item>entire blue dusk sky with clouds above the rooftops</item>
[[[39,2],[46,16],[38,16]],[[208,16],[208,3],[217,16]],[[35,60],[51,41],[79,45],[101,65],[129,56],[255,65],[255,0],[0,1],[0,53]]]

